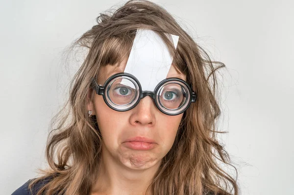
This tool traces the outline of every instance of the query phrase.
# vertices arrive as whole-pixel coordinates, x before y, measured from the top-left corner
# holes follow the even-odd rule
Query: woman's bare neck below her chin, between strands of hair
[[[125,167],[102,147],[98,179],[92,192],[97,195],[152,195],[148,187],[159,166],[160,163],[148,169],[133,170]]]

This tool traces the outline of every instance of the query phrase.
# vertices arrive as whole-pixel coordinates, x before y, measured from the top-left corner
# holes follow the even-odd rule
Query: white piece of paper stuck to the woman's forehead
[[[171,37],[176,49],[179,37]],[[124,73],[134,75],[143,91],[154,91],[156,85],[167,77],[171,65],[172,56],[163,39],[152,30],[138,29]]]

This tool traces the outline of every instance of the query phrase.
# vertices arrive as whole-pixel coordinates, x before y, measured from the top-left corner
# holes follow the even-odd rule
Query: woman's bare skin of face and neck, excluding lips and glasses
[[[109,76],[123,72],[125,66],[126,60],[117,68],[101,67],[98,84],[104,84]],[[178,74],[173,65],[169,77],[186,80],[186,76]],[[135,108],[118,112],[109,108],[102,96],[92,93],[93,90],[89,90],[87,108],[97,117],[103,141],[99,175],[91,194],[145,194],[162,158],[172,147],[183,114],[169,116],[160,112],[149,96],[141,99]],[[136,136],[154,140],[154,147],[148,150],[126,147],[123,142]]]

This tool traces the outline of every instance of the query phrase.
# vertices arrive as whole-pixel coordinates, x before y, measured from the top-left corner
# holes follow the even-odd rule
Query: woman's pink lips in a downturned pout
[[[153,149],[157,144],[154,140],[145,137],[134,137],[125,140],[123,145],[129,149],[134,150],[150,150]]]

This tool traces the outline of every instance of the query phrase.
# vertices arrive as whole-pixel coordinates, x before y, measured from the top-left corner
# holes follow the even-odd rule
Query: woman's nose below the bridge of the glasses
[[[142,98],[137,106],[131,109],[130,123],[132,125],[154,125],[156,109],[151,97]]]

